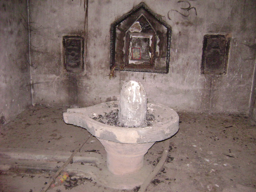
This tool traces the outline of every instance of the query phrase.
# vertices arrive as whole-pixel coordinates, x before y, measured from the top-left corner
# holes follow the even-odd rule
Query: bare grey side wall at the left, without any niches
[[[31,105],[27,1],[0,1],[0,126]]]

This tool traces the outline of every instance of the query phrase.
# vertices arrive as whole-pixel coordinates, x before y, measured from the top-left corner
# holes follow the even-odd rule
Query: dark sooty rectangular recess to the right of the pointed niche
[[[230,35],[204,35],[201,74],[227,73],[230,41]]]

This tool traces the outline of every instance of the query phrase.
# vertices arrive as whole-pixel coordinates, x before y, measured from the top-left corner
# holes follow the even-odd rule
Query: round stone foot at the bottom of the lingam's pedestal
[[[152,170],[152,166],[147,164],[146,161],[140,171],[127,175],[114,175],[108,170],[107,166],[104,166],[100,171],[100,175],[96,175],[95,180],[97,183],[110,188],[131,190],[142,185]]]

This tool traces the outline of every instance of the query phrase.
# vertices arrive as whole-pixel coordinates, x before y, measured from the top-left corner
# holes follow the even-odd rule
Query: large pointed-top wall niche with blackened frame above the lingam
[[[168,73],[171,27],[140,3],[112,23],[110,70]]]

